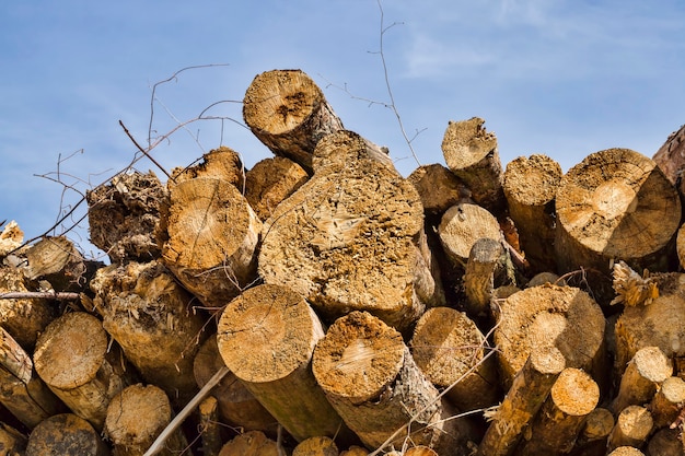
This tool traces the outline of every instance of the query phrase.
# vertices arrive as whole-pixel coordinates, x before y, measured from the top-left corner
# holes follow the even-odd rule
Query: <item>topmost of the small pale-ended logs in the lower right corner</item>
[[[661,383],[673,375],[673,363],[659,347],[645,347],[638,350],[626,366],[618,394],[608,409],[618,414],[628,406],[642,406],[649,402]]]

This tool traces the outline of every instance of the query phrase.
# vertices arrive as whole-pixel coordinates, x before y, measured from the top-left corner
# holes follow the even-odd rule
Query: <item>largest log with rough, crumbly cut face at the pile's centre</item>
[[[303,295],[327,320],[357,309],[406,328],[425,305],[444,302],[420,249],[419,196],[373,160],[332,167],[265,223],[259,274]]]

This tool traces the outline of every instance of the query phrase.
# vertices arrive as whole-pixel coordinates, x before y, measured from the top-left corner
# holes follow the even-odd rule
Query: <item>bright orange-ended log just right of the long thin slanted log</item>
[[[584,371],[565,369],[536,414],[521,456],[553,456],[571,452],[588,414],[600,401],[600,387]]]

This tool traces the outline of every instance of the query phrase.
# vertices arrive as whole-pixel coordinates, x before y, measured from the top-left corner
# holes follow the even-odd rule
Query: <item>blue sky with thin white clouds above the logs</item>
[[[545,153],[565,171],[612,147],[651,156],[685,124],[681,0],[382,7],[395,105],[407,133],[418,132],[423,164],[444,163],[448,121],[473,116],[497,135],[503,165]],[[60,208],[132,159],[119,120],[147,144],[152,86],[193,66],[214,65],[158,85],[152,139],[216,102],[225,103],[208,114],[227,119],[190,122],[160,143],[153,154],[166,168],[220,144],[247,166],[270,156],[239,125],[240,101],[256,74],[299,68],[346,128],[387,145],[408,175],[417,164],[383,105],[380,38],[376,0],[2,2],[0,221],[16,220],[26,237],[49,229]],[[146,160],[137,167],[154,169]],[[86,236],[72,237],[88,253]]]

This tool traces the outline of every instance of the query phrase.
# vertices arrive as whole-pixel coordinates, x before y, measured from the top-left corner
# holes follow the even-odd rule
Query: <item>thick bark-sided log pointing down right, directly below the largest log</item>
[[[328,401],[368,448],[415,445],[460,454],[463,435],[440,422],[436,387],[414,362],[402,335],[365,312],[338,318],[314,351],[312,370]],[[461,441],[461,442],[460,442]],[[461,443],[461,445],[460,445]]]

